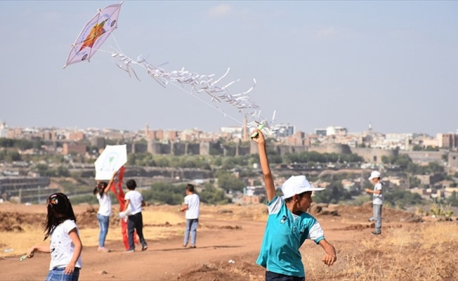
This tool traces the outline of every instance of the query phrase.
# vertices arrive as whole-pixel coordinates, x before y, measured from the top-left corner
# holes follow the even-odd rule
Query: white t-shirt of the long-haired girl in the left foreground
[[[51,250],[51,263],[49,264],[49,270],[53,270],[54,268],[65,268],[72,260],[74,244],[68,233],[74,228],[77,229],[79,235],[77,224],[72,220],[67,220],[56,226],[51,233],[49,244],[49,249]],[[81,268],[81,264],[81,255],[79,255],[75,267]]]

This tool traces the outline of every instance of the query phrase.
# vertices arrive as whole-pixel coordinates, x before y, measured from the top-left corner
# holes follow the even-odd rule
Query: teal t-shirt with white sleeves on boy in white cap
[[[273,273],[305,277],[299,248],[310,239],[325,239],[320,223],[308,213],[292,214],[282,197],[267,203],[269,216],[257,264]]]

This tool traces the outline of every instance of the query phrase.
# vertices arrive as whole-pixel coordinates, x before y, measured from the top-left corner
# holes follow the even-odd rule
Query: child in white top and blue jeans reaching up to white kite
[[[116,176],[117,171],[114,172],[112,178],[108,183],[105,181],[98,181],[96,188],[93,190],[93,194],[97,195],[98,199],[98,212],[97,212],[97,221],[98,227],[100,228],[100,233],[98,235],[98,251],[103,251],[105,253],[110,250],[105,247],[105,238],[108,234],[108,228],[110,227],[110,216],[112,214],[111,210],[111,198],[108,195],[112,184],[114,183],[114,176]]]

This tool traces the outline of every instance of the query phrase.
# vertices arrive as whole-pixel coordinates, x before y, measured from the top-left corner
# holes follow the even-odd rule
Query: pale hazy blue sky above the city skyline
[[[8,126],[239,126],[110,53],[63,70],[98,8],[119,1],[0,1],[0,119]],[[124,1],[105,41],[167,71],[221,76],[276,123],[384,133],[456,131],[458,1]],[[188,89],[189,90],[189,89]],[[202,99],[210,101],[208,96]],[[226,112],[240,119],[233,107]]]

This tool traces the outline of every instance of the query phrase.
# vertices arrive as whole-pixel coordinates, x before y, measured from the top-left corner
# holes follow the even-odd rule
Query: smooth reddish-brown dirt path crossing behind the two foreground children
[[[321,219],[330,242],[354,240],[369,230],[343,230],[348,226],[332,219]],[[185,273],[205,263],[227,264],[244,262],[254,265],[261,247],[264,222],[231,221],[239,229],[228,229],[228,221],[205,221],[211,230],[198,233],[197,248],[182,247],[182,237],[150,242],[147,251],[125,253],[120,242],[108,242],[112,252],[100,253],[96,247],[85,247],[80,280],[177,280]],[[306,246],[307,247],[307,246]],[[48,273],[48,254],[36,254],[33,259],[19,262],[18,258],[0,259],[0,280],[44,280]],[[264,269],[249,266],[254,275],[262,276]]]

